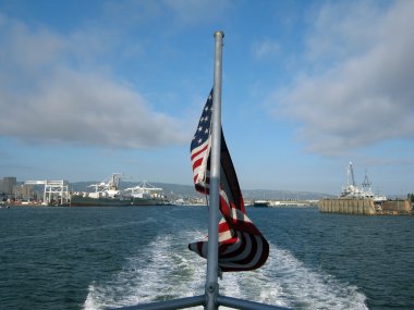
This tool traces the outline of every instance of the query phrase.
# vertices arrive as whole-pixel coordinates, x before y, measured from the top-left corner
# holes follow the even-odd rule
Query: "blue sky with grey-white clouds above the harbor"
[[[0,0],[0,177],[192,185],[222,50],[242,189],[414,191],[414,1]]]

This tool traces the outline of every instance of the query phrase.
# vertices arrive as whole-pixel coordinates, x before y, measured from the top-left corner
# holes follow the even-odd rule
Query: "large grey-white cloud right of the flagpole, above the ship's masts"
[[[299,121],[308,150],[325,156],[413,139],[414,2],[397,1],[382,14],[373,14],[365,2],[336,9],[322,8],[315,33],[307,34],[314,37],[309,72],[324,55],[329,66],[320,62],[319,71],[301,72],[291,88],[273,94],[273,112]]]

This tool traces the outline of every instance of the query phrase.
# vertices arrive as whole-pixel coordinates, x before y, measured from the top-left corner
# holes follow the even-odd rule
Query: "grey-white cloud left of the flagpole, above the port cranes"
[[[101,50],[99,34],[77,49],[87,42],[80,33],[62,37],[2,15],[0,24],[0,136],[121,148],[188,140],[178,120],[151,111],[110,69],[85,60]]]

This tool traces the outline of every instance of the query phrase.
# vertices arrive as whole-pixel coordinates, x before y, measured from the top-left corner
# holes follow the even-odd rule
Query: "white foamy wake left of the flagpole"
[[[198,233],[197,238],[205,234]],[[88,287],[85,310],[132,306],[155,300],[203,295],[205,261],[187,249],[194,237],[182,233],[159,236],[106,283]],[[195,260],[197,262],[195,262]]]

